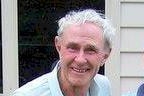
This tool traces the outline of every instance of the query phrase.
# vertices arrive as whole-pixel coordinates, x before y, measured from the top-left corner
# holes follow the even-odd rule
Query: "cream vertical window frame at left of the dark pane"
[[[1,0],[3,94],[18,88],[17,0]]]

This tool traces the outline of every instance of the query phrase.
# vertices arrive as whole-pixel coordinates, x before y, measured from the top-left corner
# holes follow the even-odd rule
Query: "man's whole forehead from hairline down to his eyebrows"
[[[104,40],[102,29],[92,23],[71,25],[64,29],[62,38],[64,43],[77,43],[80,45],[92,45],[103,47]]]

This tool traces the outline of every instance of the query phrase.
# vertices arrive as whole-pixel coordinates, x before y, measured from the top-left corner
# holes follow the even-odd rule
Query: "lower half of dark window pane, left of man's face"
[[[20,45],[19,46],[19,70],[20,86],[27,81],[47,73],[51,64],[58,58],[54,46]]]

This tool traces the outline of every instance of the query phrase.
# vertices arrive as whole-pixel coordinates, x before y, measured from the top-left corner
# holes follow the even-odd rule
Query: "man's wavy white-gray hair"
[[[103,36],[105,39],[105,46],[112,48],[114,28],[107,18],[103,14],[96,12],[93,9],[86,9],[82,11],[72,11],[65,15],[58,21],[58,31],[57,34],[60,36],[63,30],[69,25],[73,24],[83,24],[86,22],[91,22],[99,25],[103,30]]]

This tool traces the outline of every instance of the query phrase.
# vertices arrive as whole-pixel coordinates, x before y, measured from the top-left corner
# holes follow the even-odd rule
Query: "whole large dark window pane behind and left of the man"
[[[104,6],[104,0],[18,0],[20,86],[50,72],[58,59],[53,41],[59,18],[76,9],[104,13]]]

